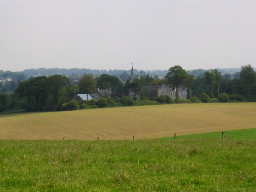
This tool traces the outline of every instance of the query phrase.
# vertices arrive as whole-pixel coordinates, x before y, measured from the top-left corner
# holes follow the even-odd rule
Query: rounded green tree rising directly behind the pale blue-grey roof
[[[96,89],[96,80],[95,80],[93,74],[92,73],[83,74],[78,83],[78,87],[79,87],[79,92],[82,94],[93,93]]]

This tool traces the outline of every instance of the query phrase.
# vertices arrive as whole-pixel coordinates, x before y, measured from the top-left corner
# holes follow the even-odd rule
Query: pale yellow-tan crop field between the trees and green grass
[[[0,115],[0,139],[160,138],[256,128],[256,103],[177,104]]]

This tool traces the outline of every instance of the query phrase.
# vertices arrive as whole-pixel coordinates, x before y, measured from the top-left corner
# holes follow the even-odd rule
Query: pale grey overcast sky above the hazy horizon
[[[256,0],[0,0],[0,70],[256,67]]]

